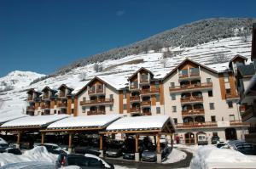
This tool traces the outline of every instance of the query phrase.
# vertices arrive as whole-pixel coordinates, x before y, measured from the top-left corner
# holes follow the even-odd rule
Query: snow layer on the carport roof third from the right
[[[44,126],[54,121],[59,121],[63,118],[67,118],[69,115],[37,115],[26,116],[24,118],[15,119],[3,123],[1,127],[28,127],[28,126]]]

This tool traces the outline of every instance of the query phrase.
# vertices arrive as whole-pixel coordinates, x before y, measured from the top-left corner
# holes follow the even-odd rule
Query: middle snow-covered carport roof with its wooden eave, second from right
[[[79,132],[88,130],[102,130],[110,123],[121,118],[121,115],[86,115],[75,116],[55,121],[41,132]]]

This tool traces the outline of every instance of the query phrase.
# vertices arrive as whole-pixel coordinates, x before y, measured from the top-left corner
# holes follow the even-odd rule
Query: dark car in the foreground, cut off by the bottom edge
[[[78,155],[71,154],[65,157],[65,162],[63,166],[80,166],[83,169],[113,169],[113,164],[109,164],[106,161],[103,161],[101,158],[96,155]]]

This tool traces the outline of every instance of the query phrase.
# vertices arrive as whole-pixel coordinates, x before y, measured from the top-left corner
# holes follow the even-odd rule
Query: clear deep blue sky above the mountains
[[[0,0],[0,76],[63,65],[195,20],[256,17],[256,1]]]

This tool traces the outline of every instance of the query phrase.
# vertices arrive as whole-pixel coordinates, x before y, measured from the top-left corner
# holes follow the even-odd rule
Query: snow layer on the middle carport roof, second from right
[[[75,116],[55,121],[47,128],[65,128],[65,127],[104,127],[108,123],[119,119],[120,115],[87,115]]]

